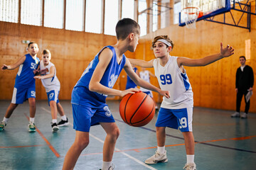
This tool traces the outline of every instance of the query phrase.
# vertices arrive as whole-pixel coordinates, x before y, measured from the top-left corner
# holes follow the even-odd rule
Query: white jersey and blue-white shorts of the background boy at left
[[[42,74],[41,76],[50,74],[50,67],[55,67],[55,65],[52,62],[49,62],[47,66],[44,66],[43,60],[40,62],[40,69],[48,69],[48,72],[46,74]],[[60,81],[58,80],[56,76],[56,68],[54,69],[54,76],[50,77],[48,79],[41,79],[43,86],[46,89],[46,94],[48,97],[48,104],[50,105],[50,101],[55,101],[56,103],[59,103],[58,101],[58,95],[60,93]]]

